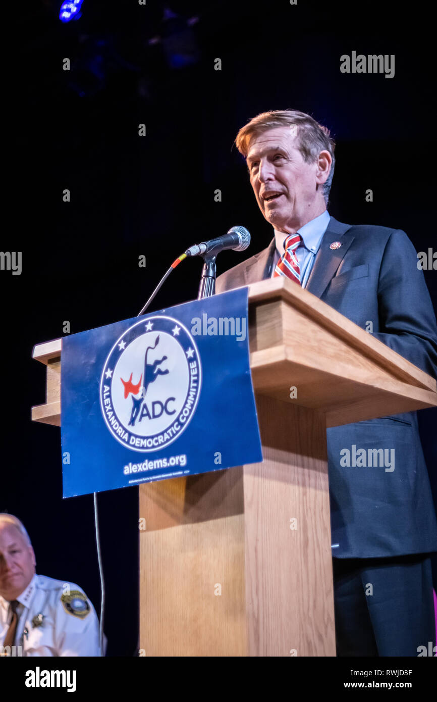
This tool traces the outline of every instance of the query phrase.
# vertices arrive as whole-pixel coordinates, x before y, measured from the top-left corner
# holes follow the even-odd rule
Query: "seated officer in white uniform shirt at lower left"
[[[25,527],[0,513],[0,654],[100,656],[98,616],[81,588],[35,566]]]

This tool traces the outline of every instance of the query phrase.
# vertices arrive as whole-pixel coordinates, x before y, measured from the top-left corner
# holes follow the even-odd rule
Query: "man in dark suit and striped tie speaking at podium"
[[[236,147],[274,239],[220,275],[216,292],[285,275],[363,329],[371,322],[373,336],[436,377],[436,317],[410,239],[327,211],[335,166],[328,129],[303,112],[272,110],[241,128]],[[437,551],[417,414],[330,428],[327,443],[337,654],[417,656],[435,644]],[[342,467],[340,452],[354,444],[391,449],[396,469]]]

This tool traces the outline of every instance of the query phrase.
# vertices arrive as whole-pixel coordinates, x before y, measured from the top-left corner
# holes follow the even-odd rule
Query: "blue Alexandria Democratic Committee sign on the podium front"
[[[262,461],[248,289],[62,339],[63,496]]]

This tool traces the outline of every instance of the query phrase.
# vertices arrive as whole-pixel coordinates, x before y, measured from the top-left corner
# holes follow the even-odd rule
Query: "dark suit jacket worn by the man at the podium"
[[[340,241],[339,249],[330,249]],[[270,277],[275,240],[217,278],[216,293]],[[422,270],[405,232],[330,218],[307,290],[433,377],[437,328]],[[330,428],[332,555],[370,558],[437,551],[437,521],[417,413]],[[395,468],[342,467],[342,449],[394,449]]]

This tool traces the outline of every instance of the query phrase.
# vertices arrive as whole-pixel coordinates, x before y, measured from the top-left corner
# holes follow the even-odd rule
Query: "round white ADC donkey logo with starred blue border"
[[[181,322],[157,315],[137,322],[116,341],[100,380],[107,428],[123,446],[156,451],[171,444],[194,416],[201,363]]]

